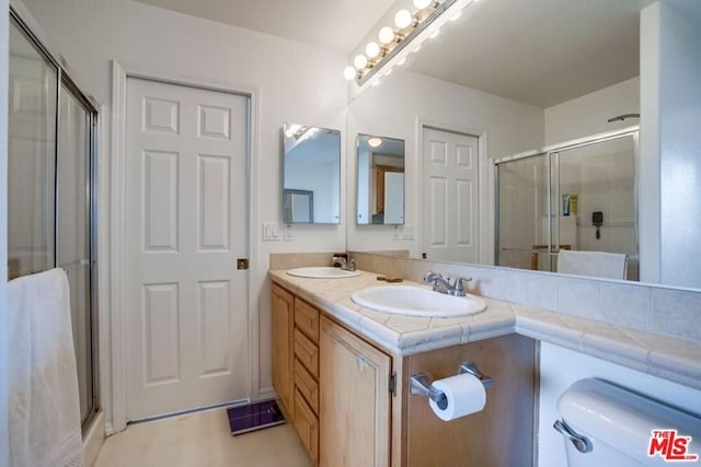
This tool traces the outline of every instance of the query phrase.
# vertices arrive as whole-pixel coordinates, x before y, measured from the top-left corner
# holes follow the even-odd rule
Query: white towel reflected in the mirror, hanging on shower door
[[[620,253],[558,252],[558,272],[597,278],[625,279],[628,257]]]

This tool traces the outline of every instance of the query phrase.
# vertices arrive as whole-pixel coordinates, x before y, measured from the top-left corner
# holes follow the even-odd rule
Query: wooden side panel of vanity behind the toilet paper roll
[[[537,341],[516,334],[417,353],[404,359],[409,375],[434,380],[458,374],[464,361],[476,363],[494,384],[478,413],[445,422],[425,397],[406,395],[409,466],[533,466],[538,388]],[[409,376],[406,376],[409,377]]]

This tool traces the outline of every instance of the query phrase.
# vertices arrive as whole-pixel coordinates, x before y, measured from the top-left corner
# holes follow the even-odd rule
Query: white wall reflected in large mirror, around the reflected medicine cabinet
[[[484,137],[483,148],[487,157],[515,154],[543,143],[543,110],[539,107],[395,70],[348,105],[348,249],[410,249],[413,256],[418,255],[416,233],[420,232],[421,222],[418,155],[422,124]],[[355,222],[357,186],[354,140],[357,133],[397,138],[405,142],[403,227],[357,225]],[[492,199],[485,200],[483,206],[491,210]],[[395,234],[399,238],[395,238]],[[403,234],[411,238],[403,238]]]

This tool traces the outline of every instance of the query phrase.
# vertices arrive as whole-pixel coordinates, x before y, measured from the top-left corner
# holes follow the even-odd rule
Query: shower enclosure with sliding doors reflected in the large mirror
[[[622,253],[637,280],[636,153],[628,129],[495,161],[496,264],[555,272],[561,249]]]

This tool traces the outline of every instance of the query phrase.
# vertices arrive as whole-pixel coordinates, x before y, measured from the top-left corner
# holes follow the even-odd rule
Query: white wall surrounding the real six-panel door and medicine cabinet
[[[272,252],[337,250],[345,248],[345,225],[294,227],[291,242],[262,243],[261,223],[281,220],[281,141],[284,121],[301,121],[324,128],[345,126],[346,83],[340,70],[345,56],[291,40],[221,23],[148,7],[129,0],[27,0],[27,9],[44,30],[44,40],[67,62],[80,87],[105,105],[102,114],[101,252],[108,245],[108,148],[111,60],[134,69],[173,77],[242,84],[258,91],[257,121],[253,122],[252,163],[258,178],[251,213],[256,233],[251,238],[252,306],[256,311],[252,348],[252,397],[271,388],[269,285],[266,279]],[[342,138],[342,147],[345,148]],[[343,167],[342,167],[343,168]],[[342,179],[345,174],[342,172]],[[345,186],[342,185],[342,206]],[[108,258],[103,254],[101,279],[110,284]],[[106,313],[110,290],[101,290],[101,320],[108,331]],[[103,374],[110,374],[108,336],[102,335]],[[105,387],[108,390],[108,387]],[[110,408],[108,393],[103,402]],[[110,418],[110,412],[107,412]]]

